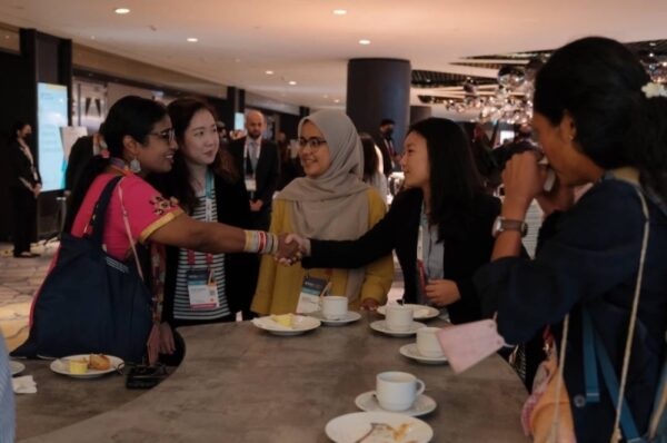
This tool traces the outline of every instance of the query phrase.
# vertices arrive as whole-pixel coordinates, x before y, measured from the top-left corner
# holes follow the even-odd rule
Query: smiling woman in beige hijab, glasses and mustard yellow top
[[[378,193],[361,180],[361,141],[345,114],[322,110],[299,124],[299,158],[306,177],[291,181],[276,198],[270,230],[305,237],[354,239],[385,215]],[[331,294],[348,297],[351,309],[374,309],[386,301],[391,286],[391,255],[355,269],[279,266],[261,260],[251,309],[285,314],[297,309],[305,278],[331,284]]]

